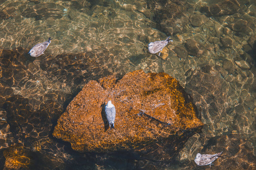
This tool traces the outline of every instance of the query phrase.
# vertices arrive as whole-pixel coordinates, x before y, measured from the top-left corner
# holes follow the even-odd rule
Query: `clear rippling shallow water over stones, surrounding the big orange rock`
[[[143,69],[178,79],[205,124],[167,169],[210,168],[197,167],[195,155],[220,151],[228,157],[215,169],[255,168],[254,1],[0,3],[0,106],[11,131],[2,150],[22,143],[60,169],[138,168],[117,155],[73,153],[51,138],[51,128],[89,80]],[[162,56],[147,52],[149,42],[169,35]],[[45,55],[28,56],[48,37]]]

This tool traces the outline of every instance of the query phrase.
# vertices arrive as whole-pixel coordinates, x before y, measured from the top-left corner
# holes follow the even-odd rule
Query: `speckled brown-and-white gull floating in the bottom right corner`
[[[200,153],[196,154],[195,163],[197,165],[210,165],[216,160],[222,152],[214,155],[201,155]]]

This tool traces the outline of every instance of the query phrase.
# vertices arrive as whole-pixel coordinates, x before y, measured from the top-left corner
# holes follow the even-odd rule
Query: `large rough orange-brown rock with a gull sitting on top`
[[[104,110],[115,105],[115,128]],[[168,161],[203,123],[179,82],[166,73],[133,71],[117,80],[91,80],[59,118],[53,136],[80,152],[132,152],[135,158]]]

